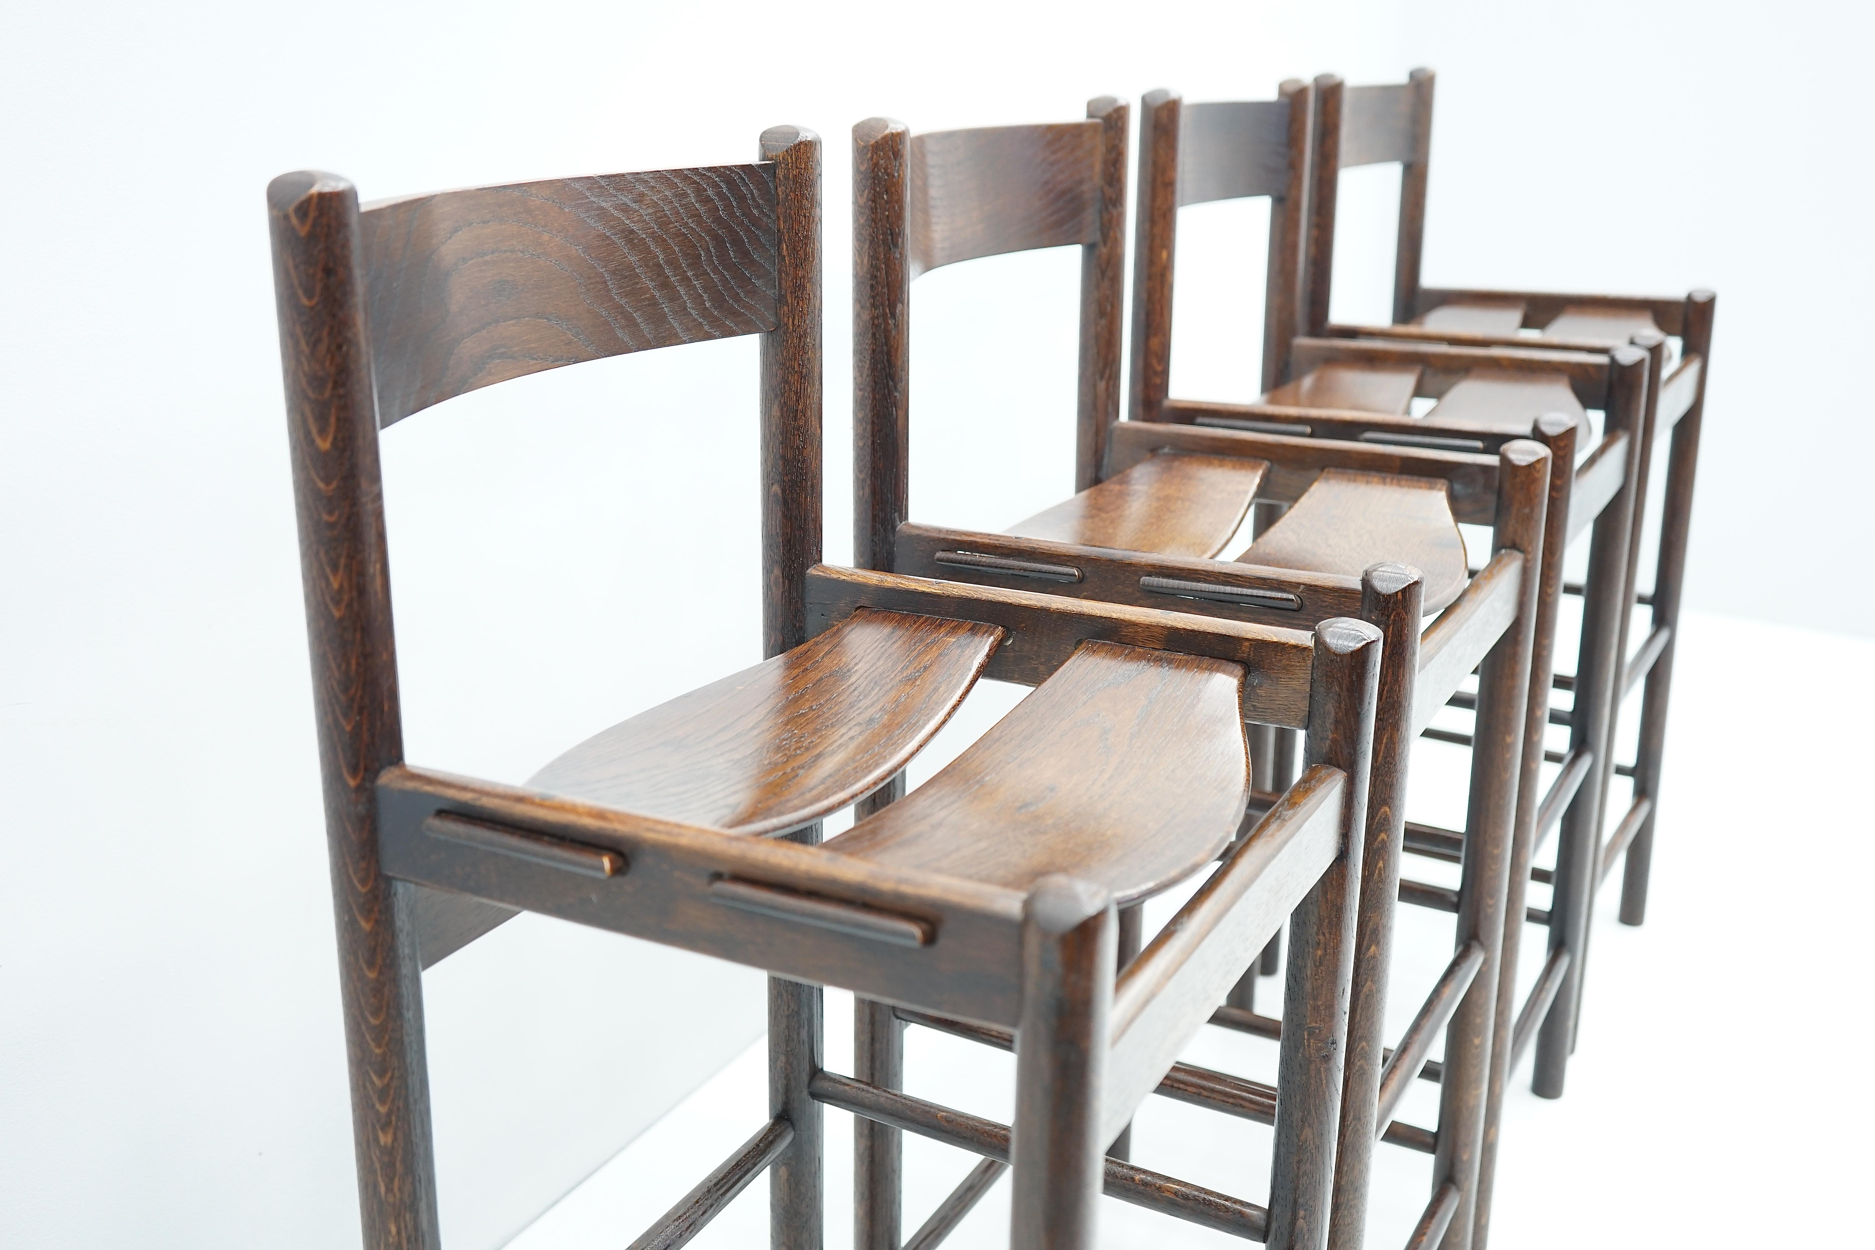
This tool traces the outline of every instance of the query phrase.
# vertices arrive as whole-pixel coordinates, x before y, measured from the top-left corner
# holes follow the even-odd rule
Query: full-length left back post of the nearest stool
[[[403,725],[358,193],[296,172],[266,199],[364,1244],[437,1250],[416,924],[379,870],[375,787]]]

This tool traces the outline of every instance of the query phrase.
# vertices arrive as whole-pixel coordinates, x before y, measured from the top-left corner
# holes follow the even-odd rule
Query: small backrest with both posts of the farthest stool
[[[1335,275],[1335,193],[1341,171],[1358,165],[1401,167],[1393,320],[1414,319],[1425,242],[1427,159],[1432,150],[1432,77],[1431,69],[1414,69],[1404,82],[1388,86],[1346,86],[1331,73],[1314,81],[1314,172],[1309,191],[1309,251],[1303,260],[1309,334],[1322,334],[1328,326],[1328,296]]]

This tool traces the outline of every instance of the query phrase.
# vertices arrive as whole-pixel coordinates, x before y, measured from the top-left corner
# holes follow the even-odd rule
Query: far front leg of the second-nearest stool
[[[1462,883],[1455,946],[1478,943],[1485,961],[1446,1031],[1446,1072],[1440,1078],[1438,1151],[1432,1188],[1455,1184],[1459,1207],[1446,1235],[1448,1250],[1470,1244],[1478,1211],[1478,1173],[1491,1085],[1491,1036],[1504,950],[1504,900],[1517,819],[1517,791],[1524,753],[1524,716],[1530,699],[1530,652],[1536,643],[1536,605],[1543,572],[1551,463],[1541,442],[1517,439],[1498,452],[1498,510],[1492,551],[1522,557],[1517,617],[1485,656],[1478,675],[1478,720],[1472,731],[1470,800],[1464,811]]]

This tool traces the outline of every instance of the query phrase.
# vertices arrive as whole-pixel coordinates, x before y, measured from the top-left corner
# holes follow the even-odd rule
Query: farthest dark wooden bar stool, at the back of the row
[[[1605,813],[1596,845],[1582,855],[1594,866],[1594,885],[1560,890],[1552,911],[1564,915],[1573,937],[1554,931],[1551,941],[1568,941],[1586,954],[1588,920],[1596,886],[1622,862],[1622,924],[1646,918],[1648,870],[1654,855],[1654,821],[1659,800],[1659,774],[1667,742],[1667,707],[1672,686],[1674,630],[1686,579],[1686,542],[1693,513],[1693,478],[1699,469],[1699,431],[1704,412],[1708,362],[1712,360],[1712,320],[1718,300],[1710,290],[1686,296],[1639,298],[1611,294],[1568,294],[1549,290],[1468,290],[1423,287],[1419,260],[1425,240],[1427,172],[1432,146],[1431,69],[1414,69],[1406,82],[1388,86],[1344,86],[1339,77],[1322,75],[1314,82],[1314,182],[1309,225],[1309,294],[1305,319],[1309,332],[1329,337],[1391,337],[1444,341],[1494,349],[1502,345],[1556,345],[1607,349],[1633,343],[1652,354],[1654,379],[1642,459],[1637,480],[1637,508],[1629,551],[1628,596],[1648,609],[1646,637],[1629,648],[1629,617],[1622,615],[1616,654],[1620,665],[1616,707],[1637,684],[1641,695],[1639,748],[1633,765],[1616,765],[1598,778],[1607,787],[1611,776],[1628,776],[1633,789],[1618,819]],[[1328,319],[1333,285],[1335,195],[1341,171],[1356,165],[1401,165],[1399,246],[1393,259],[1393,324],[1342,326]],[[1663,352],[1665,335],[1680,341],[1678,358]],[[1637,592],[1641,562],[1642,510],[1646,480],[1654,463],[1654,439],[1669,435],[1667,487],[1654,557],[1654,588]],[[1571,587],[1571,592],[1579,592]],[[1558,678],[1560,688],[1568,688]],[[1581,675],[1577,675],[1581,680]],[[1605,808],[1605,798],[1603,798]],[[1558,873],[1562,866],[1558,864]],[[1536,1093],[1562,1094],[1569,1051],[1581,1012],[1584,960],[1577,958],[1568,975],[1560,1006],[1551,1014],[1538,1042]]]

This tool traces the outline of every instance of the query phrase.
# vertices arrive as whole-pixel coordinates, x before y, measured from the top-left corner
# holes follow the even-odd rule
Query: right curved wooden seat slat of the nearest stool
[[[1249,798],[1243,669],[1082,643],[943,772],[829,851],[1026,890],[1048,873],[1119,903],[1217,858]]]

